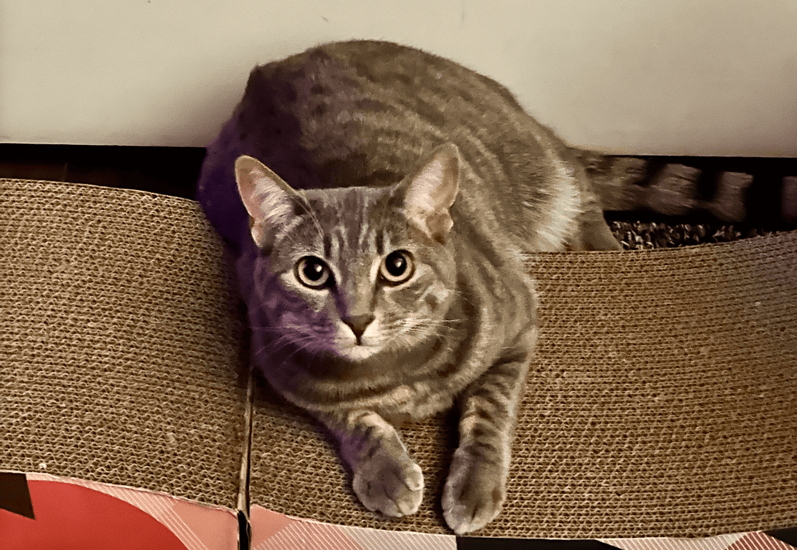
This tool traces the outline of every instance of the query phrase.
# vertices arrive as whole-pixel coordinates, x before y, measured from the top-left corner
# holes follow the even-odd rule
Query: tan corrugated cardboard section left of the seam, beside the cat
[[[0,179],[0,468],[235,508],[229,304],[195,202]]]

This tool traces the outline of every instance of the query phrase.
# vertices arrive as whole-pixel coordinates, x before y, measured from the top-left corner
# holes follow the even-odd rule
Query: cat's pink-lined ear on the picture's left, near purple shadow
[[[296,191],[269,167],[248,155],[235,160],[238,194],[249,218],[252,238],[258,248],[270,249],[281,226],[287,225],[296,204]]]

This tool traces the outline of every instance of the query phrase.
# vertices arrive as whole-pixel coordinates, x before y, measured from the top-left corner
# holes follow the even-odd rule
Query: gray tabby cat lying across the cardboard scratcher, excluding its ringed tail
[[[253,361],[332,431],[363,505],[418,509],[395,426],[456,402],[446,522],[492,521],[536,345],[526,257],[620,249],[571,151],[461,65],[333,43],[253,70],[198,198],[238,258]]]

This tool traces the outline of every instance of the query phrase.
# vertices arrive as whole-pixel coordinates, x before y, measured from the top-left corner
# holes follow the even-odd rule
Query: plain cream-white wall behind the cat
[[[797,156],[797,0],[0,0],[0,141],[203,146],[253,65],[351,37],[489,74],[575,145]]]

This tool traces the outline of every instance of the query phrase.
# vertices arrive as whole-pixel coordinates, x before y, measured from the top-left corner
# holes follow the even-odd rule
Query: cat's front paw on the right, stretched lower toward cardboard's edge
[[[457,449],[442,499],[443,517],[453,532],[463,535],[481,529],[501,512],[505,500],[505,469],[485,462],[467,447]]]

